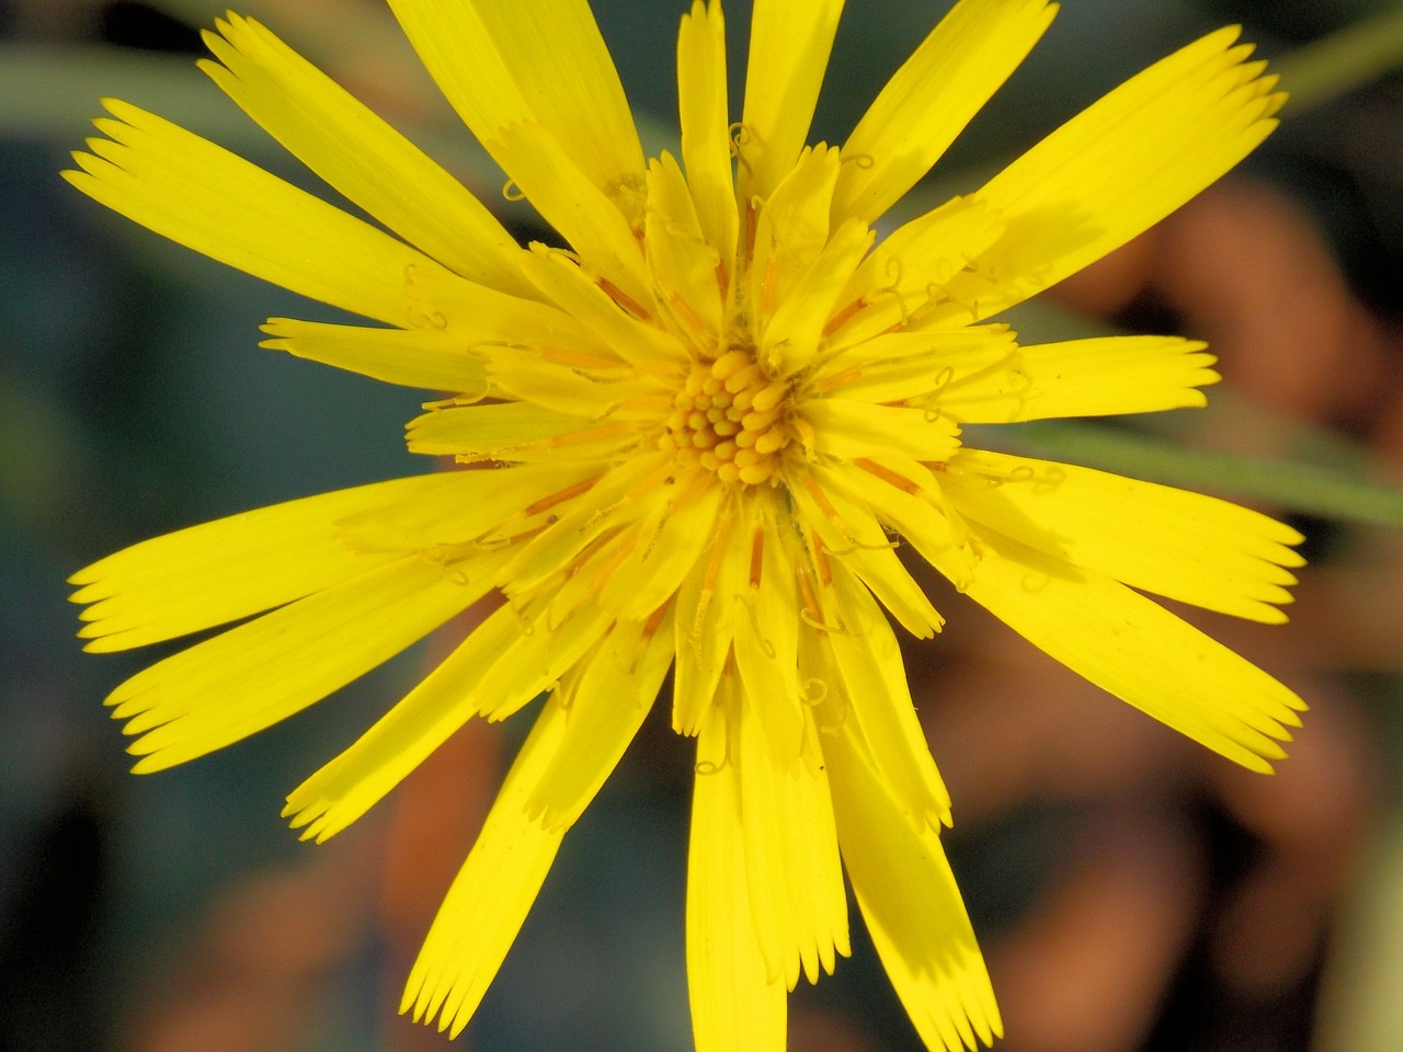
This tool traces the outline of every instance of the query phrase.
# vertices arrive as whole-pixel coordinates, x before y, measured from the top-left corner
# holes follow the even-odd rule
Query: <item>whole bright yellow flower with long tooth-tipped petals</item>
[[[1260,621],[1301,560],[1254,512],[961,445],[961,425],[1200,405],[1179,338],[1020,345],[1003,309],[1125,243],[1274,126],[1225,29],[884,240],[1051,21],[961,0],[840,147],[805,146],[840,0],[758,0],[731,123],[724,25],[678,42],[680,161],[644,160],[585,0],[391,0],[419,56],[570,250],[518,245],[448,173],[262,25],[203,70],[372,226],[122,102],[73,185],[376,327],[275,318],[265,346],[446,390],[410,449],[491,470],[311,497],[73,576],[88,649],[223,634],[119,686],[136,770],[317,701],[483,596],[501,607],[289,797],[323,840],[473,715],[544,710],[404,994],[455,1034],[561,837],[673,670],[697,738],[687,975],[697,1048],[784,1048],[786,990],[849,952],[846,867],[930,1048],[1000,1032],[940,846],[946,790],[887,617],[941,626],[904,539],[1093,683],[1256,770],[1303,706],[1142,592]],[[389,233],[386,233],[389,231]]]

